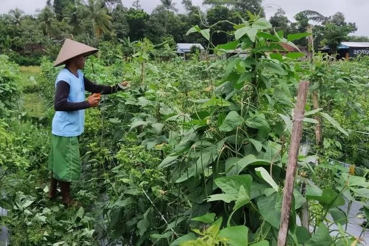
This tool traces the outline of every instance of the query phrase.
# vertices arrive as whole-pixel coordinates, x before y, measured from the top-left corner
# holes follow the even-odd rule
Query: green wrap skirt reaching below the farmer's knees
[[[49,170],[57,180],[74,182],[81,176],[78,137],[52,135]]]

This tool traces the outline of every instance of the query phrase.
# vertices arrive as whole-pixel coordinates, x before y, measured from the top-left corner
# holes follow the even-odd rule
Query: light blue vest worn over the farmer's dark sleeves
[[[83,81],[83,73],[78,70],[79,78],[77,78],[68,69],[63,68],[56,81],[55,88],[59,81],[65,81],[69,84],[68,102],[85,101],[85,84]],[[77,110],[71,112],[57,111],[55,112],[52,133],[62,137],[75,137],[83,133],[85,128],[85,110]]]

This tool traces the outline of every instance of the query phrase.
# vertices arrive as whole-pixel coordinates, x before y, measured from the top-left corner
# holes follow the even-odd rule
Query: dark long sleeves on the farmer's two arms
[[[118,91],[122,91],[122,89],[115,85],[113,87],[106,85],[97,85],[92,83],[86,77],[83,78],[85,84],[85,90],[91,93],[101,93],[101,94],[112,94]],[[69,94],[70,86],[65,81],[59,81],[57,83],[57,89],[55,92],[55,101],[54,108],[55,111],[76,111],[87,109],[90,107],[90,103],[88,101],[83,102],[68,102],[68,94]]]

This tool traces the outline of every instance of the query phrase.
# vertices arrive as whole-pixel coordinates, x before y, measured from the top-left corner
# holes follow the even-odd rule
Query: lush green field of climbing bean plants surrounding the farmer
[[[76,209],[46,197],[59,70],[47,58],[26,69],[0,56],[0,206],[8,210],[0,224],[12,245],[277,245],[289,149],[299,144],[287,244],[366,245],[369,60],[284,52],[310,33],[270,34],[257,16],[212,46],[220,24],[187,35],[202,35],[225,59],[161,61],[144,39],[130,44],[132,54],[87,60],[91,81],[131,86],[86,110]],[[302,80],[302,138],[291,142]],[[358,206],[354,236],[347,228]]]

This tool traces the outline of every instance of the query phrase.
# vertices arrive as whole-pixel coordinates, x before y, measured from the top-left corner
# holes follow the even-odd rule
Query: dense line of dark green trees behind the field
[[[203,4],[209,6],[205,12],[191,0],[182,0],[181,4],[185,13],[178,13],[175,0],[160,0],[150,14],[143,10],[140,0],[134,0],[131,6],[124,6],[121,0],[47,0],[35,15],[26,15],[19,8],[11,9],[0,16],[0,53],[27,65],[37,64],[43,55],[55,59],[65,38],[96,47],[107,42],[127,46],[145,37],[154,44],[168,42],[173,49],[176,43],[207,46],[208,41],[200,34],[185,35],[196,25],[213,26],[212,44],[218,45],[231,39],[234,30],[231,23],[247,21],[248,13],[265,16],[263,0],[204,0]],[[229,23],[216,24],[220,20]],[[270,18],[275,27],[270,31],[283,31],[284,35],[305,32],[313,23],[315,49],[326,45],[337,49],[341,41],[369,40],[365,36],[348,36],[357,27],[355,23],[347,23],[340,12],[325,17],[306,10],[297,13],[295,20],[291,22],[279,8]],[[306,41],[298,44],[306,46]]]

